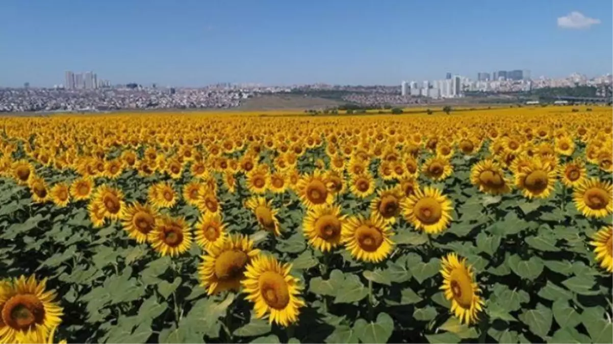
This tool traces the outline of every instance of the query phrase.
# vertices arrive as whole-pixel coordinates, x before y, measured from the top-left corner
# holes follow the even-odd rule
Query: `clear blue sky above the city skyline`
[[[574,11],[584,24],[560,28]],[[611,0],[2,0],[0,16],[2,86],[65,70],[173,86],[613,72]]]

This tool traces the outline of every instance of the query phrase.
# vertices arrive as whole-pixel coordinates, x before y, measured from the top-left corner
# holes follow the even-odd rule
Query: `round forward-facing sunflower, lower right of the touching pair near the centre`
[[[378,263],[392,252],[392,235],[389,225],[379,215],[371,214],[368,219],[357,215],[343,226],[341,241],[357,260]]]

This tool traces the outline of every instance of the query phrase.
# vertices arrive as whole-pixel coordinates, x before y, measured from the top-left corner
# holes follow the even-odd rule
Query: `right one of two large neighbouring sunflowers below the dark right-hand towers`
[[[555,176],[548,163],[534,159],[523,172],[516,174],[515,184],[528,198],[547,198],[554,190]]]

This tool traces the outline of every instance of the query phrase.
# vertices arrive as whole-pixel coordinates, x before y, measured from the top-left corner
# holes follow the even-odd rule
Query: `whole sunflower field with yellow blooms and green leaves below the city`
[[[611,108],[0,122],[0,344],[613,343]]]

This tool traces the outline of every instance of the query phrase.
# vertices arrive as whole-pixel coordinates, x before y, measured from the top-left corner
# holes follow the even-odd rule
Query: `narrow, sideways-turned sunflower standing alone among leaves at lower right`
[[[483,309],[481,290],[474,282],[473,267],[466,264],[466,258],[461,260],[455,253],[449,253],[441,262],[441,275],[445,298],[451,301],[451,312],[459,318],[460,323],[476,323],[478,313]]]

